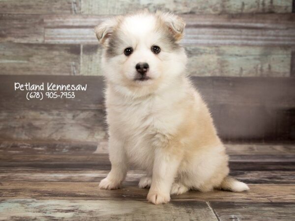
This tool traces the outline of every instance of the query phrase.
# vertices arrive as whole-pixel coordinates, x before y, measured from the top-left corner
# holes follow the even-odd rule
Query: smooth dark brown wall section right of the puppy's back
[[[295,134],[291,132],[295,124],[294,108],[286,108],[289,102],[294,106],[295,97],[288,96],[285,102],[280,95],[291,91],[295,94],[295,82],[287,78],[243,78],[243,83],[240,80],[193,78],[208,103],[220,137],[224,140],[236,137],[240,141],[261,138],[265,141],[295,140]],[[284,80],[294,85],[288,88]],[[225,100],[228,105],[223,103]]]

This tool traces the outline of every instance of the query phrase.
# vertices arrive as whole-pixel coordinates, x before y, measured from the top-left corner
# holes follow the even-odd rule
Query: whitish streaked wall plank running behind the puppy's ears
[[[295,46],[294,14],[183,15],[184,45]],[[45,43],[96,44],[106,16],[45,16]]]

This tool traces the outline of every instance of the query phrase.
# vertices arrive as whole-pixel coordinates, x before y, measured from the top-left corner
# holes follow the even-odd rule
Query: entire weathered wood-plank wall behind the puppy
[[[145,7],[185,19],[188,72],[224,140],[295,141],[293,0],[1,0],[0,139],[105,145],[93,27]],[[88,83],[89,91],[29,102],[16,81]]]

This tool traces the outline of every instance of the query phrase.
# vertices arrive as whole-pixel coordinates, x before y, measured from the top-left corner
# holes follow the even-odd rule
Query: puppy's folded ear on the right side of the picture
[[[182,39],[184,35],[185,22],[181,17],[174,15],[170,12],[157,11],[156,14],[164,22],[169,31],[172,32],[173,36],[177,41]]]

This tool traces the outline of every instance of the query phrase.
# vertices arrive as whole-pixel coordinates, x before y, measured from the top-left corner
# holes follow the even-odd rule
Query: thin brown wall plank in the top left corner
[[[77,14],[81,0],[0,0],[0,13]]]

